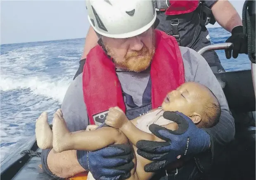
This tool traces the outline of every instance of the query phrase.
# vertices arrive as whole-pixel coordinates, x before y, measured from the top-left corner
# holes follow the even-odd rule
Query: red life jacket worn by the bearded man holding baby
[[[155,30],[156,48],[152,59],[152,108],[161,106],[167,93],[185,82],[183,59],[175,38]],[[102,47],[95,46],[87,55],[83,68],[83,97],[91,125],[95,117],[119,106],[126,112],[121,84],[116,75],[114,62]]]

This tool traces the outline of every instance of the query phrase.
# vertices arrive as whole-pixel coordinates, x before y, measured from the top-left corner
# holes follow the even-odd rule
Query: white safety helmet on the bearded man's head
[[[86,0],[86,9],[92,28],[106,37],[140,35],[156,20],[152,0]]]

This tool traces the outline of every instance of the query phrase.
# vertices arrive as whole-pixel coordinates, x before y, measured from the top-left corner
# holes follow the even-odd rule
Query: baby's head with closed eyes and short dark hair
[[[220,118],[220,104],[216,96],[209,88],[195,82],[184,83],[169,92],[162,108],[187,115],[198,127],[213,127]]]

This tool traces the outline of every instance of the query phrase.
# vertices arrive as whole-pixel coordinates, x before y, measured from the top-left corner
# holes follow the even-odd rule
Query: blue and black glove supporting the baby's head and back
[[[138,155],[153,161],[144,167],[145,172],[158,171],[177,159],[193,157],[207,150],[211,142],[210,135],[183,113],[166,111],[163,116],[176,122],[179,128],[171,131],[155,124],[149,126],[155,136],[166,142],[140,140],[136,143]]]

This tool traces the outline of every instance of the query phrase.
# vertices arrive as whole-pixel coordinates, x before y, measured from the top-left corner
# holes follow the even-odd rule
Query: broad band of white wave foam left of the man
[[[0,78],[0,89],[2,91],[30,88],[33,93],[53,98],[60,103],[62,102],[66,90],[71,82],[71,79],[63,77],[62,79],[38,76],[14,78],[1,74]]]

